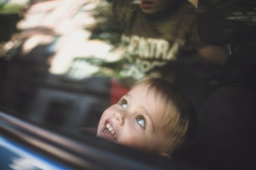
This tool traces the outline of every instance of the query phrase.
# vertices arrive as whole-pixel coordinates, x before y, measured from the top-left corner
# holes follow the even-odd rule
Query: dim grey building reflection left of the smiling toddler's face
[[[74,81],[49,75],[45,84],[38,88],[30,117],[68,130],[97,127],[109,105],[109,85],[110,79],[103,77]]]

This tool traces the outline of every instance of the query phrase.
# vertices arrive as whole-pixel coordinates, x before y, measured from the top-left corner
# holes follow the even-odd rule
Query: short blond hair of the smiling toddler
[[[148,86],[148,93],[153,92],[155,99],[161,101],[161,110],[170,115],[168,123],[163,128],[165,140],[159,153],[172,155],[173,151],[191,139],[196,131],[194,106],[178,86],[164,79],[144,78],[136,82],[132,88],[138,85]]]

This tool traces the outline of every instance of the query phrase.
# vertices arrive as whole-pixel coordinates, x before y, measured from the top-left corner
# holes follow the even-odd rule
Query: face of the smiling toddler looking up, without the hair
[[[136,86],[119,103],[104,111],[99,121],[97,136],[110,141],[157,152],[164,141],[163,128],[168,115],[159,109],[148,87]]]

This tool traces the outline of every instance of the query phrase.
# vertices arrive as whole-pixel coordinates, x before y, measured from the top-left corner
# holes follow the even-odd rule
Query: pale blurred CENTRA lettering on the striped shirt
[[[168,62],[176,60],[180,46],[183,45],[178,41],[170,45],[164,39],[144,38],[137,35],[130,37],[122,35],[121,43],[128,46],[126,57],[131,64],[128,69],[126,66],[125,75],[135,79],[145,77],[155,68],[161,68]]]

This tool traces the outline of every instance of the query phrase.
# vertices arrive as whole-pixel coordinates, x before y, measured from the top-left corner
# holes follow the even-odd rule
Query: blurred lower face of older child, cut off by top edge
[[[142,0],[139,7],[145,14],[154,14],[166,10],[173,0]]]

